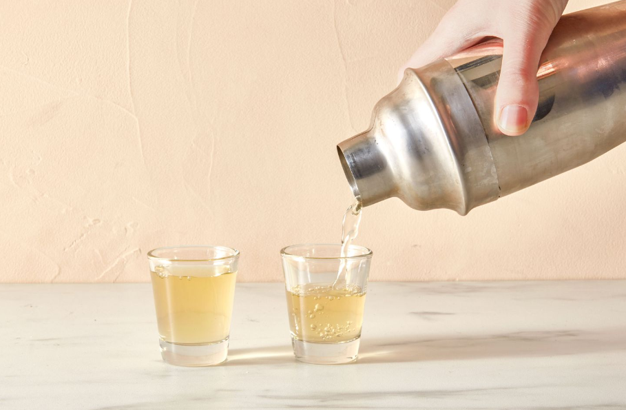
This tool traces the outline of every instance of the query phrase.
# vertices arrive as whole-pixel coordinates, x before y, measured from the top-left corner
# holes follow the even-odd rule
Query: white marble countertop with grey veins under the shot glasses
[[[359,360],[239,283],[229,359],[165,364],[149,284],[0,285],[0,409],[626,409],[626,281],[371,283]]]

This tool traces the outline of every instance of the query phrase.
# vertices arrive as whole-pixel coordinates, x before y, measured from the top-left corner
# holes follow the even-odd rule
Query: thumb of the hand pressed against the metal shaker
[[[545,35],[513,34],[504,39],[502,68],[496,93],[495,121],[500,132],[521,135],[537,110],[539,59],[550,32]]]

